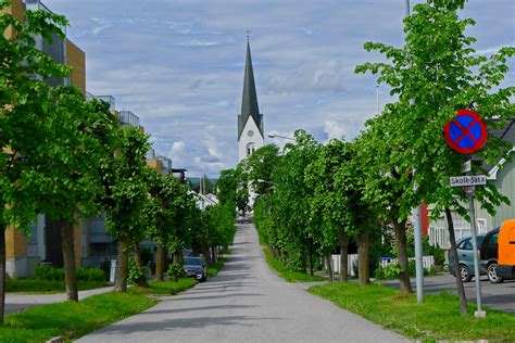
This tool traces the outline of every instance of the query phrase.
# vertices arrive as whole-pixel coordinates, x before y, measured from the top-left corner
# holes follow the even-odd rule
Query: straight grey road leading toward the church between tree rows
[[[218,276],[78,342],[404,342],[285,282],[268,269],[251,225],[238,227]]]

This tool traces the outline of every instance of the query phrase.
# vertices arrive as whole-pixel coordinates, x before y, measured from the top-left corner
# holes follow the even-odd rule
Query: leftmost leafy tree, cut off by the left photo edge
[[[0,10],[10,5],[10,1],[2,1]],[[28,11],[24,22],[10,13],[0,14],[0,322],[4,312],[5,228],[12,224],[24,229],[36,218],[38,190],[48,180],[39,166],[42,156],[68,156],[53,145],[52,137],[58,131],[53,124],[60,120],[52,109],[58,91],[45,81],[52,76],[64,77],[67,68],[36,49],[34,38],[63,38],[60,27],[66,25],[63,16],[47,11]],[[68,132],[76,127],[64,129]],[[46,168],[49,161],[43,163],[41,167]]]

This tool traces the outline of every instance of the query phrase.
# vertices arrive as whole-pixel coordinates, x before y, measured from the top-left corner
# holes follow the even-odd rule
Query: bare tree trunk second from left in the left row
[[[66,298],[78,302],[77,274],[75,266],[74,227],[70,220],[59,220],[63,247],[64,280],[66,282]]]

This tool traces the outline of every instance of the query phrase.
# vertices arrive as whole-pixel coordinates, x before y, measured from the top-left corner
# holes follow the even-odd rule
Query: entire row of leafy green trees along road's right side
[[[503,87],[507,60],[514,48],[490,56],[476,53],[475,39],[465,34],[474,21],[461,18],[464,0],[427,0],[404,20],[405,43],[394,48],[367,42],[385,62],[365,63],[356,73],[378,74],[378,82],[391,88],[395,101],[366,122],[366,129],[352,141],[318,144],[306,132],[296,132],[296,143],[279,153],[275,147],[258,150],[240,166],[259,194],[254,218],[274,254],[292,268],[313,272],[313,257],[341,253],[342,280],[347,280],[349,241],[359,250],[359,277],[369,282],[369,249],[385,229],[394,231],[401,267],[401,292],[411,293],[406,230],[412,209],[431,206],[432,217],[445,215],[451,255],[457,261],[452,212],[467,218],[467,196],[451,188],[449,177],[461,175],[470,156],[453,152],[442,138],[442,128],[461,109],[480,113],[488,128],[512,118],[514,87]],[[475,155],[486,173],[510,157],[512,145],[489,136]],[[491,183],[476,189],[476,199],[490,214],[510,200]],[[456,270],[456,275],[460,271]],[[461,310],[466,298],[461,278],[456,288]]]

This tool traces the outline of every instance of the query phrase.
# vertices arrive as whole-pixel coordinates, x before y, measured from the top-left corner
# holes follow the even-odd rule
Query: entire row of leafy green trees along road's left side
[[[2,1],[0,10],[11,5]],[[25,233],[45,213],[61,227],[66,293],[77,301],[74,226],[104,213],[108,233],[118,244],[116,291],[127,287],[128,255],[140,264],[138,244],[158,244],[158,280],[165,252],[179,255],[199,245],[209,253],[234,237],[234,211],[201,213],[194,193],[173,176],[147,166],[149,137],[121,127],[109,105],[86,101],[74,87],[51,87],[67,66],[39,51],[34,37],[64,39],[67,21],[48,11],[27,11],[21,22],[0,12],[0,322],[5,293],[5,230]],[[9,35],[8,35],[9,34]],[[179,255],[180,256],[180,255]],[[216,254],[208,254],[216,258]],[[145,283],[141,280],[141,283]]]

